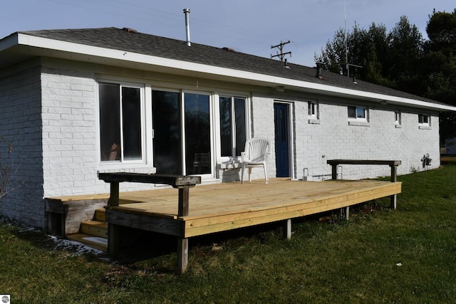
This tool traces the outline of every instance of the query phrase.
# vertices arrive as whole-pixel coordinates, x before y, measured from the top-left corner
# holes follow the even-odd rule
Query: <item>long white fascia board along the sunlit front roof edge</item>
[[[9,39],[6,39],[8,43]],[[68,53],[77,53],[85,56],[95,56],[98,58],[107,58],[111,60],[126,61],[131,63],[140,63],[142,65],[155,65],[163,68],[175,68],[185,70],[192,73],[202,73],[209,75],[219,75],[225,78],[236,78],[249,80],[249,82],[262,83],[268,86],[283,85],[286,88],[294,88],[295,90],[313,90],[318,93],[328,93],[331,95],[344,96],[346,98],[366,98],[366,100],[386,101],[387,103],[395,103],[406,105],[413,108],[428,108],[430,110],[449,110],[456,111],[456,107],[451,105],[442,105],[438,103],[428,103],[421,100],[414,100],[409,98],[400,98],[397,96],[383,95],[378,93],[371,93],[361,90],[351,90],[347,88],[339,88],[333,85],[323,85],[320,83],[311,83],[303,80],[293,80],[289,78],[281,78],[272,75],[264,75],[259,73],[252,73],[243,70],[234,70],[232,68],[221,68],[213,65],[204,65],[201,63],[191,63],[188,61],[179,61],[175,59],[148,56],[140,53],[130,53],[122,50],[115,50],[111,48],[100,48],[98,46],[88,46],[80,43],[71,43],[66,41],[58,41],[55,39],[41,38],[36,36],[29,36],[24,33],[19,33],[17,44],[25,46],[33,46],[36,48],[43,48],[48,50],[63,51]],[[14,41],[11,41],[14,43]],[[2,45],[0,44],[0,47]],[[1,48],[0,48],[1,50]]]

